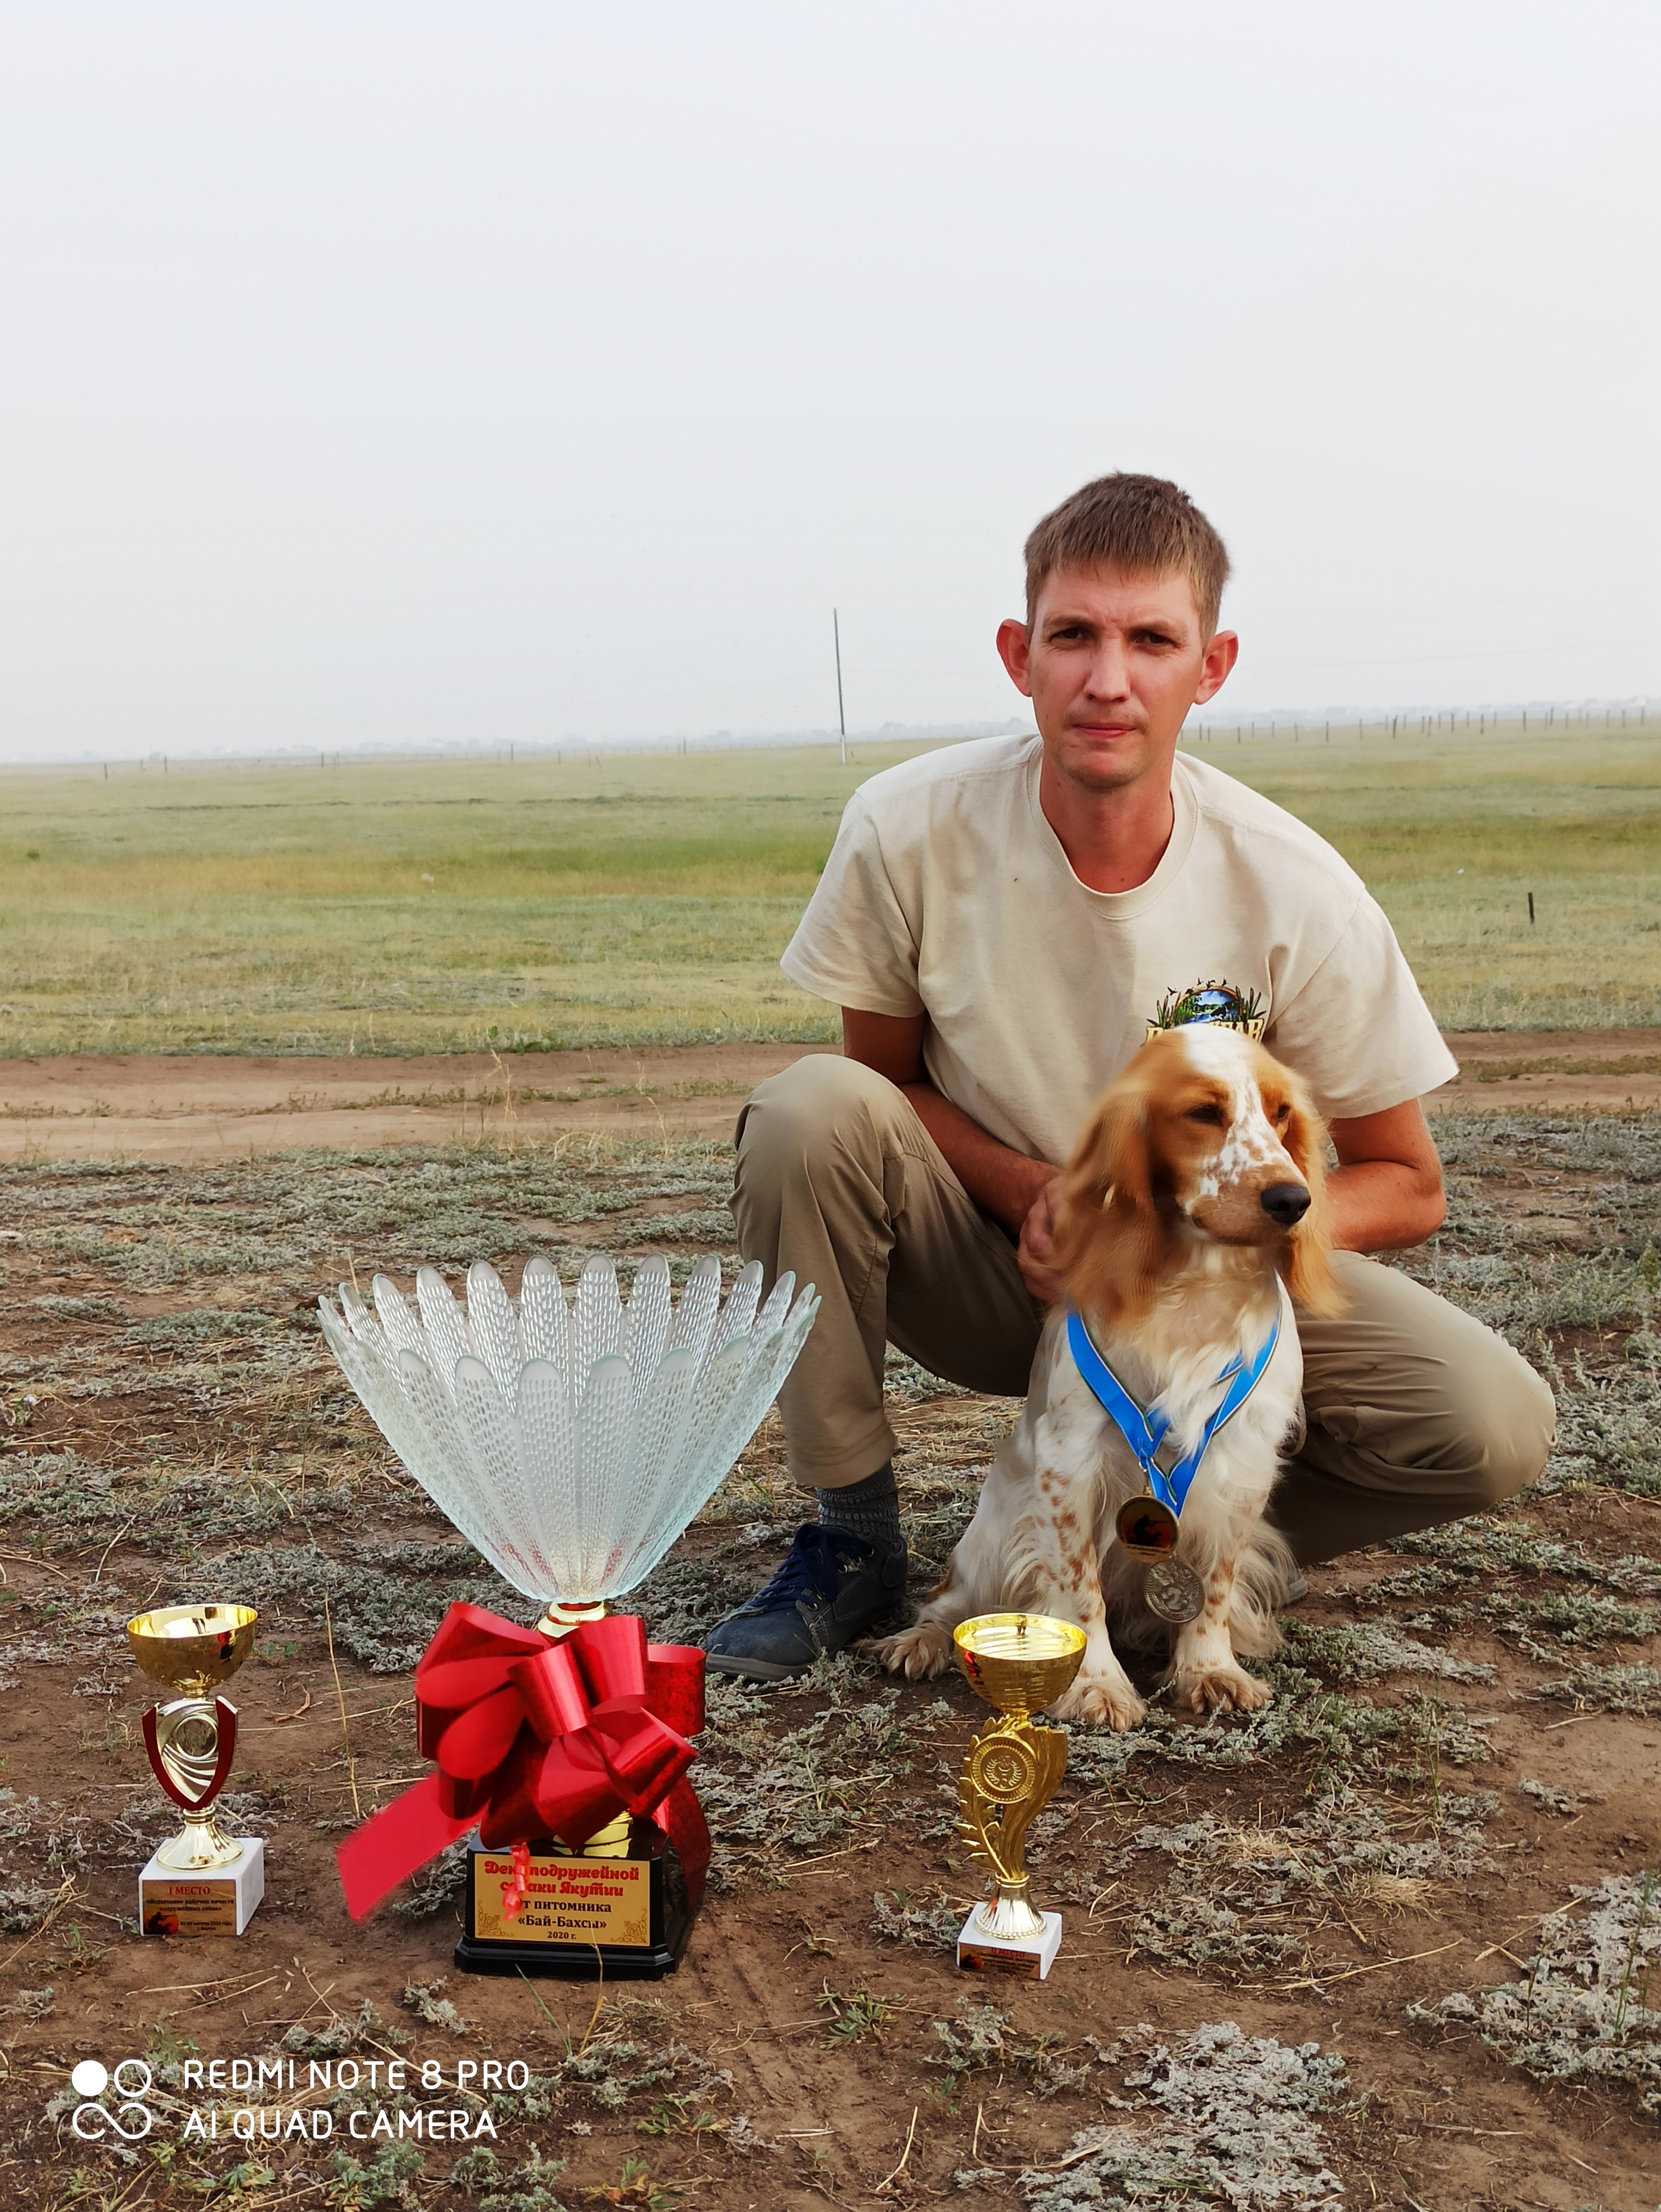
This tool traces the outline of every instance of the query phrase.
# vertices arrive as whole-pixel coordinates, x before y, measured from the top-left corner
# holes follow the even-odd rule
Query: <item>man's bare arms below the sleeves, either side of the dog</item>
[[[887,1075],[969,1197],[1020,1237],[1020,1265],[1031,1294],[1053,1303],[1064,1294],[1053,1270],[1055,1168],[1028,1159],[971,1121],[962,1106],[929,1082],[922,1066],[927,1015],[860,1013],[843,1006],[843,1051]],[[1442,1161],[1418,1099],[1387,1113],[1334,1121],[1338,1168],[1327,1177],[1334,1243],[1345,1252],[1400,1252],[1442,1225]]]

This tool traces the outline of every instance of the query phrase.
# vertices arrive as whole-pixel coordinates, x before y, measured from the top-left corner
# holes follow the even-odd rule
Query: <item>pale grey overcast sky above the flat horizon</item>
[[[0,757],[1004,717],[1106,469],[1241,712],[1661,690],[1648,0],[0,40]]]

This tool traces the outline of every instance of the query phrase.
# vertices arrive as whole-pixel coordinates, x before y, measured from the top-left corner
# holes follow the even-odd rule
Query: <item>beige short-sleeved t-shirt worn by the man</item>
[[[1179,754],[1170,845],[1090,891],[1037,803],[1037,737],[922,754],[863,783],[781,967],[863,1013],[927,1013],[929,1079],[1057,1166],[1168,991],[1256,991],[1265,1044],[1329,1117],[1458,1075],[1396,933],[1292,814]]]

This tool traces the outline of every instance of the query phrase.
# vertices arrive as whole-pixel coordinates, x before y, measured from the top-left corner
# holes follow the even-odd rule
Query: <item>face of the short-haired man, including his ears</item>
[[[1190,706],[1234,666],[1239,639],[1205,639],[1188,575],[1066,568],[1033,622],[1004,622],[997,650],[1033,701],[1051,768],[1093,792],[1170,774]]]

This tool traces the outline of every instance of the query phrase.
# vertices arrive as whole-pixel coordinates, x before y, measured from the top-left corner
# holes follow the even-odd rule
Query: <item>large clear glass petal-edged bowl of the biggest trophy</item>
[[[520,1296],[482,1261],[458,1305],[433,1267],[416,1301],[385,1274],[374,1312],[341,1285],[323,1334],[376,1427],[433,1504],[557,1632],[637,1588],[708,1504],[803,1347],[818,1298],[761,1265],[721,1298],[721,1261],[679,1301],[661,1256],[624,1298],[591,1259],[566,1303],[533,1256]]]

